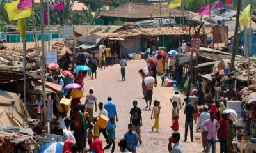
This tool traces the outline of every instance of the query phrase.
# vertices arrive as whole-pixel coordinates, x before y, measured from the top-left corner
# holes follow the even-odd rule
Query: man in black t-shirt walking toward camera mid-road
[[[142,115],[140,108],[137,107],[138,102],[133,101],[133,108],[130,110],[130,124],[133,125],[134,131],[138,134],[139,143],[142,144],[140,127],[142,126]]]

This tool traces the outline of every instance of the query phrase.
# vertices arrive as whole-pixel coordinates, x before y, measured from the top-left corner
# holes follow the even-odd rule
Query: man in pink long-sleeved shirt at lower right
[[[210,119],[207,119],[203,124],[201,124],[200,128],[204,130],[204,127],[207,127],[207,148],[206,153],[210,152],[210,148],[212,146],[212,153],[216,152],[216,133],[220,128],[220,124],[215,117],[215,112],[210,112]]]

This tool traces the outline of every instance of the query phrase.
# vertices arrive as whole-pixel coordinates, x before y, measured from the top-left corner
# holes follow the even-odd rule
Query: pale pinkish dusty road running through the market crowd
[[[91,80],[89,77],[84,80],[84,90],[86,94],[88,89],[93,87],[94,94],[97,96],[98,102],[106,102],[107,96],[111,95],[113,101],[116,103],[118,109],[118,123],[116,128],[116,149],[115,152],[119,152],[117,143],[121,138],[124,137],[124,133],[127,131],[127,124],[129,124],[129,111],[132,108],[132,101],[137,100],[138,106],[142,110],[143,115],[143,126],[141,127],[141,137],[143,144],[137,148],[137,152],[148,152],[148,153],[162,153],[168,152],[168,138],[172,133],[170,125],[172,124],[172,105],[169,101],[170,96],[174,94],[175,91],[168,87],[161,87],[158,85],[154,88],[153,99],[161,101],[161,115],[159,119],[159,133],[152,133],[150,127],[154,124],[154,120],[150,119],[151,112],[145,109],[145,101],[141,99],[141,76],[138,73],[138,69],[146,66],[145,61],[129,61],[127,63],[127,77],[125,82],[121,81],[120,76],[120,66],[108,66],[105,70],[97,70],[97,79]],[[159,84],[161,83],[160,78],[158,78]],[[184,96],[182,99],[184,99]],[[84,98],[82,100],[84,102]],[[99,110],[98,110],[99,111]],[[98,113],[98,112],[97,112]],[[184,152],[201,152],[202,140],[200,138],[200,133],[196,133],[196,128],[194,126],[194,142],[183,142],[184,140],[184,110],[180,113],[180,127],[179,132],[181,134],[180,141],[184,147]],[[194,124],[195,125],[195,124]],[[189,136],[189,131],[188,131]],[[102,137],[103,138],[103,137]],[[102,139],[103,140],[103,139]],[[190,138],[188,137],[188,140]],[[104,143],[105,145],[106,143]],[[217,152],[220,152],[220,145],[216,145]],[[110,152],[110,150],[106,150]]]

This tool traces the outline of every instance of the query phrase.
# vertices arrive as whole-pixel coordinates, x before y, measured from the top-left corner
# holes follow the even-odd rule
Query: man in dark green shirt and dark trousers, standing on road
[[[185,119],[185,139],[184,139],[184,142],[187,141],[188,126],[189,126],[189,129],[190,129],[190,140],[191,140],[191,142],[194,142],[193,141],[193,113],[194,113],[194,106],[191,105],[190,101],[185,106],[184,113],[186,115],[186,119]]]

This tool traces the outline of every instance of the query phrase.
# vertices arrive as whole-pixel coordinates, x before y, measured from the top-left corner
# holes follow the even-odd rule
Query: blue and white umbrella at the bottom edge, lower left
[[[46,143],[39,149],[39,153],[59,153],[62,152],[64,142],[50,142]]]

